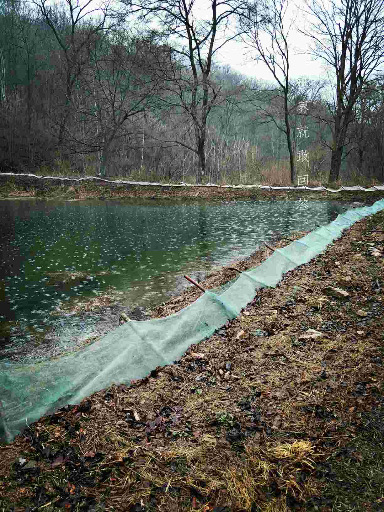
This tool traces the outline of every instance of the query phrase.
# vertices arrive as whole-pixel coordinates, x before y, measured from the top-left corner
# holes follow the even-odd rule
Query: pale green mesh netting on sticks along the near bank
[[[145,322],[131,321],[91,345],[35,365],[0,361],[0,441],[11,442],[41,416],[95,391],[148,375],[172,364],[193,344],[236,317],[255,291],[275,287],[283,274],[308,263],[357,220],[384,209],[384,199],[371,207],[348,210],[327,226],[276,250],[262,265],[243,272],[231,286],[206,291],[178,313]]]

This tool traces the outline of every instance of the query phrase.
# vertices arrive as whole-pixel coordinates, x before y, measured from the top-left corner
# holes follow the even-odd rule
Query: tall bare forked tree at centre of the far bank
[[[159,44],[172,49],[168,67],[161,70],[165,102],[189,119],[195,140],[193,145],[187,144],[183,133],[170,142],[197,154],[200,181],[205,172],[207,118],[215,105],[233,94],[211,80],[213,59],[238,35],[230,31],[230,22],[244,11],[246,0],[211,0],[209,19],[199,18],[198,0],[122,0],[122,3],[129,8],[127,14],[136,14],[144,23],[157,23]]]

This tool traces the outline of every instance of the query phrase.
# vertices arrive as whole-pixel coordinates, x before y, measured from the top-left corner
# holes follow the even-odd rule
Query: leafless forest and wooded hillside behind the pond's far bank
[[[384,182],[381,0],[0,2],[0,172]],[[328,80],[293,78],[295,32]],[[218,63],[239,41],[268,78]]]

